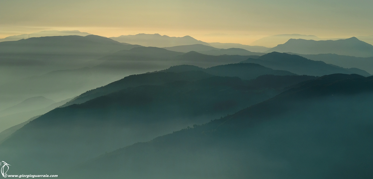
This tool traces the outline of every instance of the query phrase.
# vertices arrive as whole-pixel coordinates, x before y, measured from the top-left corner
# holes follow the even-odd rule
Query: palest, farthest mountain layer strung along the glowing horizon
[[[46,37],[46,36],[87,36],[92,35],[89,33],[82,33],[80,31],[41,31],[38,33],[22,34],[18,36],[9,36],[1,41],[16,41],[21,39],[26,39],[29,37]],[[269,50],[269,47],[275,47],[279,44],[286,43],[289,39],[304,39],[304,40],[338,40],[345,38],[319,38],[313,35],[302,35],[302,34],[279,34],[275,36],[263,37],[251,43],[251,45],[244,45],[239,43],[206,43],[200,40],[196,40],[190,36],[184,37],[169,37],[166,35],[161,36],[160,34],[137,34],[137,35],[127,35],[119,37],[110,37],[113,40],[119,41],[126,44],[138,44],[141,46],[153,46],[153,47],[173,47],[173,46],[183,46],[183,45],[193,45],[193,44],[203,44],[206,46],[212,46],[218,49],[230,49],[230,48],[240,48],[251,52],[265,52]],[[373,44],[373,36],[358,36],[361,41]],[[194,50],[195,51],[195,50]]]

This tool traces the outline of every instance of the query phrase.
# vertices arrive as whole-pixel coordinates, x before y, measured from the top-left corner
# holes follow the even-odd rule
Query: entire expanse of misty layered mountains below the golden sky
[[[372,178],[370,44],[75,33],[0,42],[7,175]]]

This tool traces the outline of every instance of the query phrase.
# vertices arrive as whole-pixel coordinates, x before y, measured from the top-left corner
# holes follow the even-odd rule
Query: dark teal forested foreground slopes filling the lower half
[[[244,81],[211,76],[196,71],[198,67],[169,70],[186,68],[193,71],[134,75],[133,80],[123,78],[124,81],[110,86],[136,83],[144,77],[151,83],[152,78],[173,78],[170,80],[173,82],[130,88],[125,85],[122,90],[119,87],[115,92],[107,91],[107,95],[102,93],[82,104],[54,109],[10,135],[0,144],[0,152],[7,154],[5,159],[12,158],[18,171],[53,171],[67,178],[299,178],[304,175],[349,178],[357,173],[367,178],[372,175],[369,172],[372,144],[367,135],[372,130],[369,125],[372,113],[368,110],[373,97],[371,77],[265,75]],[[242,94],[247,94],[244,95],[247,98],[242,98]],[[264,101],[258,98],[259,94],[264,98],[279,95]],[[201,98],[204,98],[202,104],[188,105],[189,102],[196,105],[194,100],[201,102]],[[242,108],[241,105],[252,100],[263,102],[201,125],[206,118],[216,118],[213,114],[219,116],[235,106]],[[172,113],[164,113],[170,108]],[[201,114],[208,115],[195,118]],[[173,115],[186,118],[167,120]],[[184,126],[195,125],[172,132],[175,124],[182,121]],[[150,142],[135,143],[167,131],[172,133]],[[134,144],[124,147],[130,143]],[[122,148],[100,155],[120,145]],[[92,159],[83,162],[89,158]],[[25,160],[40,164],[30,167],[23,164]],[[339,164],[341,160],[352,164],[345,168]],[[321,161],[325,165],[320,165]],[[106,165],[97,166],[100,162]],[[358,163],[367,165],[361,167]],[[248,172],[247,167],[255,170]]]

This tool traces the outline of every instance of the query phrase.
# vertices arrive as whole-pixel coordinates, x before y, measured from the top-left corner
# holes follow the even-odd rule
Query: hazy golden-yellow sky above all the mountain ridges
[[[0,0],[0,38],[43,30],[250,44],[276,34],[373,35],[372,0]]]

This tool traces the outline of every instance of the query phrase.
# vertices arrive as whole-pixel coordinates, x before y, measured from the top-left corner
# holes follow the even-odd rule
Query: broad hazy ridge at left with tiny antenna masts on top
[[[84,62],[133,47],[137,46],[125,45],[110,38],[94,35],[33,37],[1,42],[0,64],[11,66],[58,64],[62,67],[77,68]],[[62,70],[62,67],[59,70]]]

